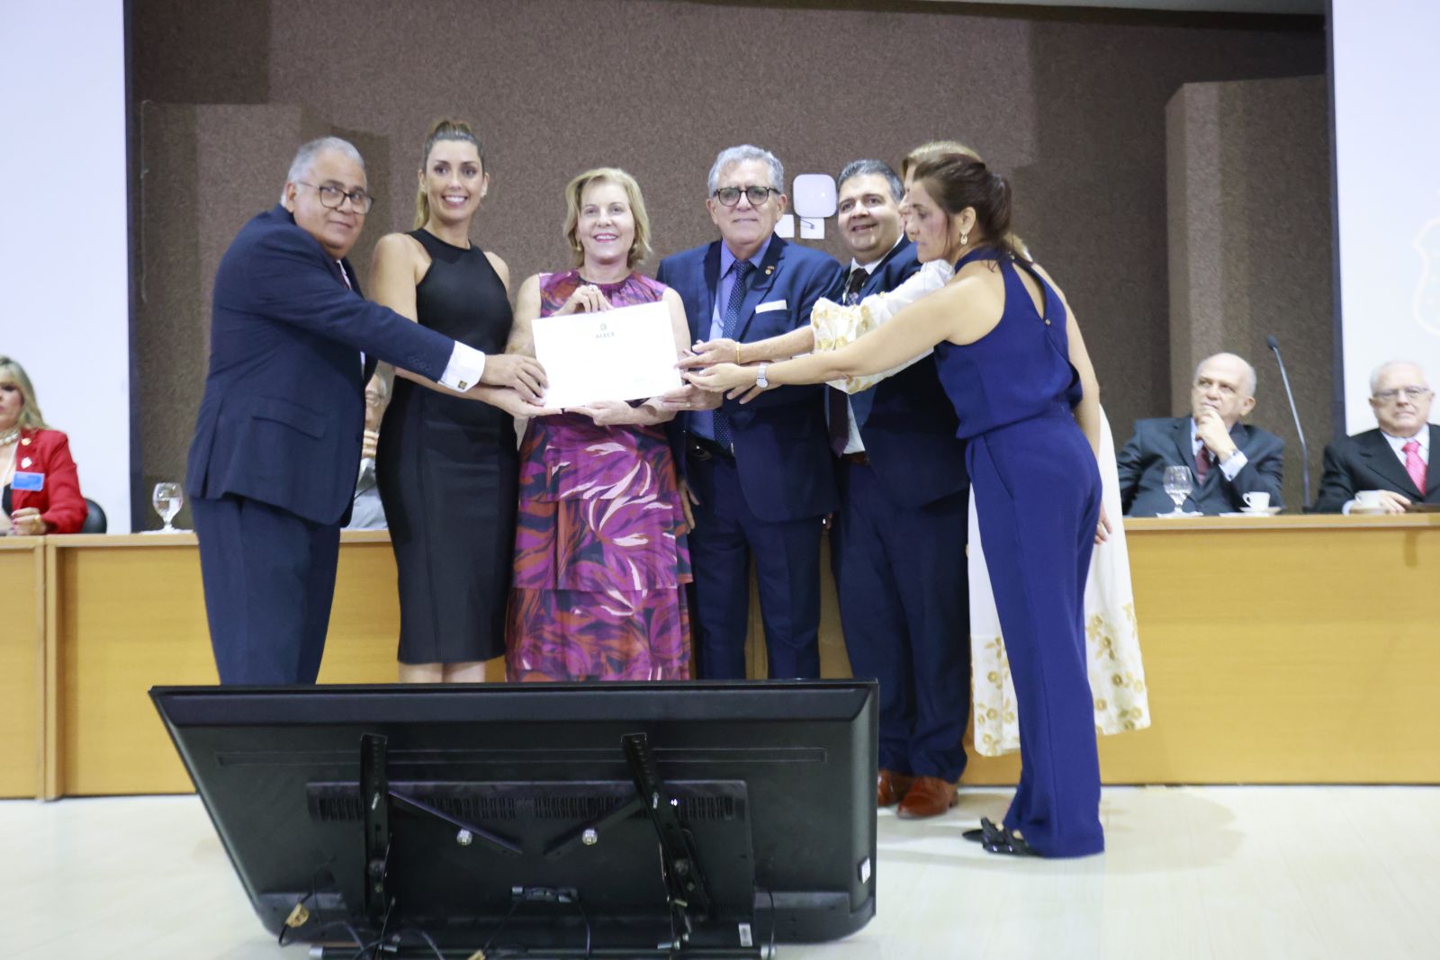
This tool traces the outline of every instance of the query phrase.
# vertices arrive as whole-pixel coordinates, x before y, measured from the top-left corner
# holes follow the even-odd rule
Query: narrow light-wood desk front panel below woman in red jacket
[[[42,792],[45,537],[0,537],[0,799]]]

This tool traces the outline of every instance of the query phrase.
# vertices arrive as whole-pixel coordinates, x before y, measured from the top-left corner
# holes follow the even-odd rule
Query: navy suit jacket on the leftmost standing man
[[[346,273],[354,282],[348,263]],[[439,380],[454,348],[454,340],[348,289],[282,206],[256,216],[215,276],[210,368],[186,491],[248,497],[343,524],[360,472],[374,360]]]

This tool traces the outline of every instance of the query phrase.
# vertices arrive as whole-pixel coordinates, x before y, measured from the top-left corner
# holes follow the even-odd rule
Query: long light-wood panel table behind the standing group
[[[1440,515],[1130,520],[1126,531],[1153,727],[1102,740],[1107,783],[1440,783]],[[7,609],[35,617],[27,640],[7,630],[0,645],[0,717],[16,731],[0,741],[0,793],[189,790],[145,691],[215,682],[194,537],[0,538],[0,564]],[[822,668],[842,676],[824,581]],[[321,682],[393,681],[397,629],[387,535],[346,533]],[[756,636],[757,612],[759,668]],[[1014,783],[1017,770],[1014,757],[972,757],[965,779]]]

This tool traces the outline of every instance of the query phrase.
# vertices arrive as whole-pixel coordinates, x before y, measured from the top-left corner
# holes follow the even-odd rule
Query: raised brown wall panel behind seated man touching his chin
[[[1171,410],[1189,409],[1202,358],[1246,357],[1259,374],[1250,422],[1284,439],[1290,508],[1303,501],[1300,446],[1266,337],[1292,376],[1313,498],[1332,429],[1328,111],[1323,76],[1188,83],[1166,109]]]

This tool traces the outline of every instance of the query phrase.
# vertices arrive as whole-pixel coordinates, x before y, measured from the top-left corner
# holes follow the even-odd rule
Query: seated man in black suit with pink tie
[[[1369,376],[1369,407],[1380,427],[1341,438],[1325,448],[1325,475],[1315,511],[1348,514],[1356,494],[1371,491],[1367,507],[1403,514],[1411,504],[1440,504],[1440,471],[1430,450],[1440,426],[1430,423],[1434,390],[1418,364],[1392,360]]]

